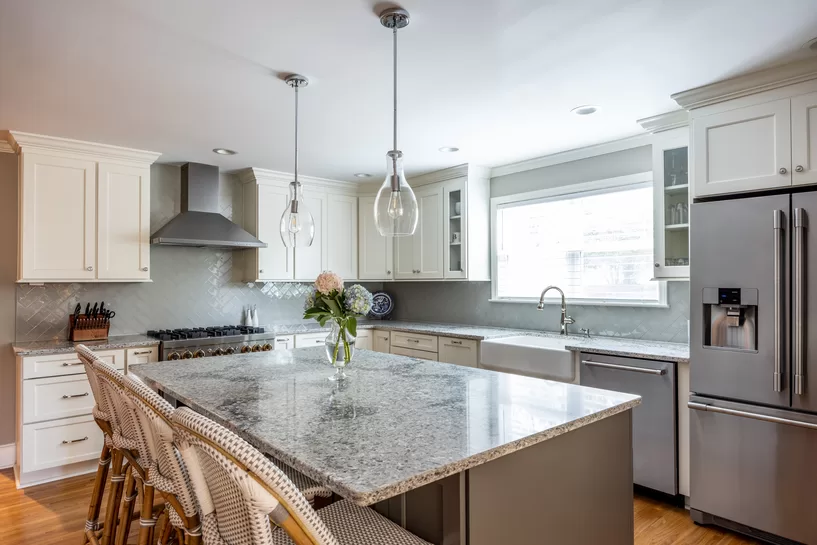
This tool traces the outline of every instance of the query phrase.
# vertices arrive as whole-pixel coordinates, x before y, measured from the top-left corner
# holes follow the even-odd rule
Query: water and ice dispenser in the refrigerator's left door
[[[757,290],[704,288],[704,346],[757,350]]]

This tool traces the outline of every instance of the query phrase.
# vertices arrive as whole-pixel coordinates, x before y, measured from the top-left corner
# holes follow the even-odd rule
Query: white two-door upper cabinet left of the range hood
[[[20,156],[18,282],[150,281],[159,154],[12,131]]]

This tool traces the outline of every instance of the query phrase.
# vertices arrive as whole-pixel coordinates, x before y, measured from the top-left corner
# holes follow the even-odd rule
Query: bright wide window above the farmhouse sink
[[[538,299],[552,284],[574,304],[666,304],[665,284],[651,280],[650,179],[644,173],[492,199],[494,299]]]

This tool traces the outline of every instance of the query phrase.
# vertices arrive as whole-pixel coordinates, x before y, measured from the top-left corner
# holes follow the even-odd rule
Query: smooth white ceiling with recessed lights
[[[0,0],[0,129],[160,162],[355,180],[391,148],[391,36],[362,0]],[[409,175],[638,134],[671,93],[808,55],[814,0],[405,0]],[[596,104],[579,117],[569,110]],[[457,146],[459,153],[441,153]],[[210,150],[226,147],[238,155]]]

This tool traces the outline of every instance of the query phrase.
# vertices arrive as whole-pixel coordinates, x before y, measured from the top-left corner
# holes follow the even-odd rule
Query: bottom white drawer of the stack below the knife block
[[[91,416],[23,426],[23,473],[99,457],[104,438]]]

